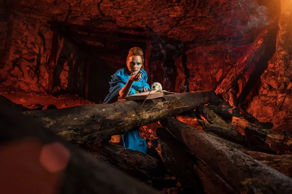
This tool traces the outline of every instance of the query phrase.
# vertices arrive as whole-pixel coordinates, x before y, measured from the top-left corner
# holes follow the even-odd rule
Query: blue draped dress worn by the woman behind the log
[[[125,86],[128,79],[130,78],[130,75],[125,73],[125,70],[127,68],[121,68],[115,72],[115,74],[111,75],[111,81],[110,83],[110,94],[105,98],[104,104],[112,103],[117,100],[117,97],[119,96],[120,90]],[[129,95],[133,95],[135,93],[141,92],[144,88],[150,89],[149,84],[147,83],[147,73],[144,69],[140,70],[141,72],[141,80],[140,81],[134,81]],[[124,134],[123,137],[124,140],[124,146],[128,149],[137,150],[143,153],[147,153],[148,146],[145,141],[140,135],[139,135],[139,129],[132,129],[129,130]]]

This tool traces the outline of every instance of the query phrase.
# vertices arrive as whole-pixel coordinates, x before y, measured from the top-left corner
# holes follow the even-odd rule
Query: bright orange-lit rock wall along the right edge
[[[292,1],[281,0],[276,52],[261,76],[259,95],[248,112],[261,122],[272,122],[275,131],[292,129]]]

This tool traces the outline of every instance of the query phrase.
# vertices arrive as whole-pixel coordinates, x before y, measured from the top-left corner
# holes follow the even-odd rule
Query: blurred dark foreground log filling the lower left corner
[[[159,194],[16,108],[0,107],[1,193]]]

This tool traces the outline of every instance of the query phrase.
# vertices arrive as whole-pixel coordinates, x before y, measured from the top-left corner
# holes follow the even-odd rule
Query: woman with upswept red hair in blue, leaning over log
[[[127,57],[128,68],[121,68],[111,76],[110,94],[105,98],[104,104],[116,101],[119,96],[125,98],[135,93],[150,91],[143,64],[143,50],[138,47],[131,48]],[[111,142],[120,142],[120,137],[120,135],[112,136]],[[126,132],[123,140],[125,148],[147,153],[147,143],[139,135],[139,129]]]

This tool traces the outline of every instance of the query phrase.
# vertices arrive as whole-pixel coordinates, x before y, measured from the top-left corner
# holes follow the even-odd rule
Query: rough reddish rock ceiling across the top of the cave
[[[236,40],[258,32],[274,0],[10,0],[20,15],[83,28],[151,32],[183,42]],[[266,7],[267,6],[267,7]]]

